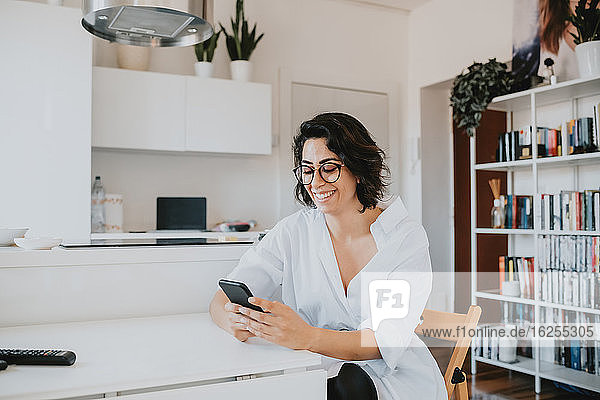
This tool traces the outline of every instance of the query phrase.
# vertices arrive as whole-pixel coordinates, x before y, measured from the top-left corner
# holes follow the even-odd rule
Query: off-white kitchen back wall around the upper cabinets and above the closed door
[[[341,73],[364,80],[396,81],[406,91],[408,16],[398,10],[339,0],[246,0],[246,17],[265,32],[252,55],[257,82],[273,85],[273,133],[279,126],[279,69]],[[234,0],[215,1],[215,20],[228,27]],[[153,49],[150,70],[192,74],[191,48]],[[95,65],[116,66],[113,45],[95,42]],[[229,77],[224,41],[215,54],[216,76]],[[399,115],[403,112],[398,110]],[[399,135],[400,132],[392,134]],[[291,150],[290,150],[291,154]],[[278,149],[271,156],[92,152],[92,173],[109,192],[125,199],[125,229],[154,228],[156,195],[204,195],[208,224],[223,218],[254,218],[274,224],[281,170]],[[394,179],[401,179],[394,171]]]

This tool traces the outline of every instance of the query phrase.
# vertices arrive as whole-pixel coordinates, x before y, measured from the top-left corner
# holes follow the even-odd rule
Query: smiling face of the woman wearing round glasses
[[[329,183],[323,180],[319,174],[319,168],[325,164],[323,175],[327,176],[328,171],[332,176],[336,176],[337,169],[332,165],[342,165],[342,160],[337,154],[327,148],[324,138],[309,139],[304,143],[302,149],[302,166],[312,167],[314,177],[312,182],[305,185],[313,202],[324,214],[337,214],[340,211],[348,210],[350,207],[360,206],[356,196],[356,177],[346,167],[341,167],[339,178]],[[360,209],[360,207],[358,207]]]

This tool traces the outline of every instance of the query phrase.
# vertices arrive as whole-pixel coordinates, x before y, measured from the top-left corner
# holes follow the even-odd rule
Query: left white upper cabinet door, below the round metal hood
[[[185,77],[94,67],[92,146],[183,151]]]

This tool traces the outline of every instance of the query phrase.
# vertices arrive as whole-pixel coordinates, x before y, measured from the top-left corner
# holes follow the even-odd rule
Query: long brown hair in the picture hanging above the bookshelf
[[[569,24],[569,0],[540,0],[540,44],[551,53],[558,54],[560,39]]]

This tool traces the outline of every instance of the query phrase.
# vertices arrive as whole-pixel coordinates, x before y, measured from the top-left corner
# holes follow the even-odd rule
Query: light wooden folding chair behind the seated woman
[[[469,307],[469,311],[466,314],[425,309],[421,317],[421,325],[415,329],[415,332],[419,335],[456,343],[450,357],[450,362],[446,368],[446,373],[444,374],[448,400],[452,398],[453,393],[455,393],[455,400],[469,399],[467,377],[462,372],[462,366],[471,345],[472,338],[468,336],[468,332],[469,330],[472,330],[472,332],[475,330],[480,316],[481,307],[479,306]],[[464,337],[463,335],[457,335],[457,327],[460,327],[460,330],[464,327],[464,331],[466,332]],[[439,329],[451,329],[453,333],[450,337],[436,337],[432,334],[432,331],[435,329],[438,329],[438,332],[440,332]],[[454,391],[455,388],[456,392]]]

